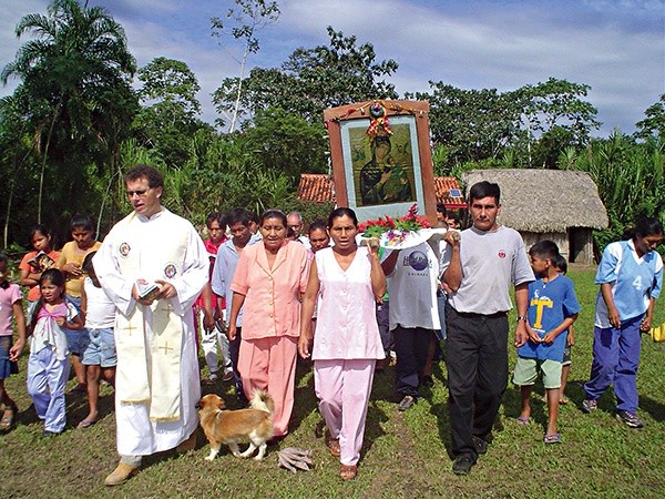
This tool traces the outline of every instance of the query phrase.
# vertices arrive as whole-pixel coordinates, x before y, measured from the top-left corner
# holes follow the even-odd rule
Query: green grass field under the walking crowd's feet
[[[25,393],[25,358],[21,374],[7,387],[21,409],[17,427],[0,435],[0,497],[270,497],[270,498],[420,498],[420,497],[665,497],[665,344],[643,336],[638,375],[640,416],[646,426],[632,430],[614,418],[614,397],[605,394],[600,410],[585,415],[580,386],[589,375],[596,288],[594,268],[573,268],[583,310],[575,324],[577,344],[569,384],[571,403],[560,413],[563,444],[542,442],[546,407],[543,389],[533,395],[531,426],[515,422],[519,391],[509,387],[495,438],[468,477],[451,470],[446,369],[434,369],[434,387],[419,403],[398,413],[393,401],[392,369],[375,378],[359,473],[344,482],[339,464],[324,447],[311,373],[299,368],[290,435],[268,447],[263,462],[241,460],[223,449],[213,462],[203,435],[195,451],[164,452],[145,459],[143,470],[120,488],[106,489],[104,477],[116,465],[113,390],[105,388],[102,420],[75,429],[85,417],[86,400],[68,395],[68,428],[42,439],[43,425]],[[665,320],[663,299],[656,303],[656,323]],[[514,349],[511,348],[511,367]],[[207,373],[204,373],[207,375]],[[74,383],[70,381],[70,387]],[[235,407],[221,381],[204,393],[221,394]],[[277,450],[296,446],[314,450],[315,469],[293,475],[277,468]]]

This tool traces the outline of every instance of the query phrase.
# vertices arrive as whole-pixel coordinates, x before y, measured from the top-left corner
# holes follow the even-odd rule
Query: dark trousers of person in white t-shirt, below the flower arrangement
[[[418,397],[420,375],[427,360],[432,329],[401,327],[392,329],[397,364],[395,366],[395,390],[400,395]]]

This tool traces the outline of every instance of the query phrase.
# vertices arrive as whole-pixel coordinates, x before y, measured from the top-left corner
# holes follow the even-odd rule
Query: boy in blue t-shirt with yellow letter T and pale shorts
[[[531,267],[538,281],[529,284],[529,316],[526,330],[529,342],[518,349],[518,361],[513,383],[521,387],[522,411],[518,418],[521,425],[529,425],[531,417],[531,389],[543,373],[543,385],[548,394],[548,429],[543,441],[559,444],[561,435],[556,430],[559,416],[559,389],[563,350],[567,329],[580,313],[573,282],[561,275],[554,262],[559,247],[552,241],[541,241],[529,249]]]

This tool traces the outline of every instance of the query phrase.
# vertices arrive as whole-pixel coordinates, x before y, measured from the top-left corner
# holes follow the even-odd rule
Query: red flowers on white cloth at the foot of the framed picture
[[[379,217],[364,222],[359,226],[362,240],[376,237],[381,247],[390,249],[406,249],[418,246],[432,237],[441,238],[446,228],[430,227],[426,216],[418,215],[418,205],[413,204],[409,212],[399,218],[390,216]]]

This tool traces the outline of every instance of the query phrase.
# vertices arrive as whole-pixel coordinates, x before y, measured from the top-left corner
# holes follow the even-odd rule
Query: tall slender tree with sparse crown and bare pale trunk
[[[236,7],[228,9],[226,13],[227,21],[221,18],[212,18],[213,35],[223,38],[231,35],[234,40],[241,42],[241,54],[229,52],[233,59],[239,64],[239,75],[226,79],[228,88],[228,100],[218,105],[219,112],[225,114],[231,121],[228,131],[236,129],[238,115],[241,113],[241,101],[243,96],[243,82],[247,71],[247,59],[253,53],[258,52],[258,31],[269,24],[274,24],[279,19],[280,10],[276,1],[266,2],[265,0],[235,0]]]

